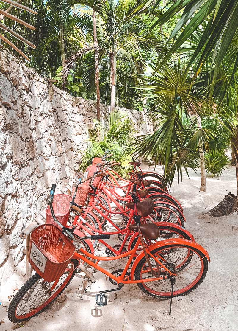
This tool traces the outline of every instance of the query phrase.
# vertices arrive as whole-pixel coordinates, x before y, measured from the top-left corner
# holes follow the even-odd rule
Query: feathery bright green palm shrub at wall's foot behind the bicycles
[[[106,150],[112,150],[110,160],[120,162],[120,166],[113,167],[117,173],[126,177],[127,172],[132,168],[128,162],[132,161],[134,152],[133,141],[135,127],[130,118],[121,112],[115,111],[110,114],[109,128],[107,129],[102,121],[94,120],[95,128],[89,130],[89,145],[82,157],[80,170],[85,170],[91,165],[92,159],[101,157]]]

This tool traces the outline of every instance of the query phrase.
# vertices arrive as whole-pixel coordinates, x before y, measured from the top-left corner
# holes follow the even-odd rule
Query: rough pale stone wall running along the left
[[[101,104],[107,122],[109,107]],[[125,110],[139,133],[148,117]],[[22,260],[21,230],[45,208],[52,183],[58,192],[87,146],[94,101],[71,97],[0,48],[0,283]]]

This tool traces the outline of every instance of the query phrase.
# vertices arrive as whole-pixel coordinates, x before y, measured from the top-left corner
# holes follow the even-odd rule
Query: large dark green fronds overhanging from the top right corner
[[[159,5],[159,1],[157,1],[156,4]],[[179,50],[180,46],[189,36],[191,36],[199,26],[203,25],[201,38],[186,69],[188,71],[194,61],[198,59],[194,72],[196,77],[201,67],[206,63],[206,60],[212,55],[212,64],[215,65],[213,80],[210,87],[212,92],[220,65],[228,52],[232,40],[234,40],[233,37],[238,28],[238,2],[233,0],[176,1],[168,10],[164,11],[163,15],[158,17],[158,20],[152,27],[164,24],[180,11],[182,11],[182,16],[173,29],[164,50],[167,50],[167,46],[172,39],[176,36],[178,37],[165,56],[163,52],[161,53],[157,68],[163,66],[166,61]],[[206,22],[206,24],[204,24],[204,22]],[[181,28],[183,28],[183,30],[179,34]],[[234,65],[234,71],[230,77],[230,80],[232,80],[234,72],[238,67],[237,48],[233,49],[230,60]],[[213,66],[211,66],[211,68],[213,68]]]

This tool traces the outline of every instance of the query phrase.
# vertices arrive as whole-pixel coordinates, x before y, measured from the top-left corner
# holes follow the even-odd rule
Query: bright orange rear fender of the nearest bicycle
[[[208,255],[208,252],[201,245],[199,245],[198,243],[196,243],[194,241],[187,240],[187,239],[166,239],[166,240],[161,240],[159,242],[156,242],[156,243],[150,245],[148,247],[148,250],[149,250],[149,252],[151,252],[151,251],[153,251],[156,248],[160,248],[160,247],[163,247],[163,246],[174,245],[174,244],[188,245],[191,248],[195,248],[195,249],[200,250],[205,255],[205,257],[208,259],[208,262],[210,263],[210,257]],[[134,263],[132,265],[132,269],[131,269],[131,280],[134,279],[134,273],[135,273],[136,266],[137,266],[137,264],[139,263],[139,261],[143,257],[144,257],[144,252],[142,251],[138,255],[138,257],[136,258],[136,260],[134,261]]]

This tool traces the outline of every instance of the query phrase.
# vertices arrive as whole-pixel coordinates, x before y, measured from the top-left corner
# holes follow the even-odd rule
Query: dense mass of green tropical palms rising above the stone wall
[[[111,110],[122,106],[150,112],[158,125],[153,134],[137,139],[136,153],[161,163],[169,184],[183,168],[200,165],[205,176],[204,162],[218,174],[224,168],[216,170],[218,163],[227,162],[222,157],[230,148],[238,178],[237,1],[25,4],[38,11],[37,17],[19,15],[36,26],[26,38],[37,48],[26,52],[13,41],[30,57],[30,65],[59,87],[63,80],[72,95],[105,102]],[[23,34],[18,24],[8,23]],[[90,138],[89,161],[102,153],[105,142],[111,144],[102,122],[95,125],[102,134]],[[128,144],[117,143],[129,155]]]

